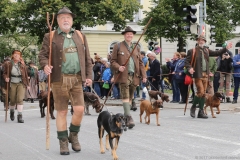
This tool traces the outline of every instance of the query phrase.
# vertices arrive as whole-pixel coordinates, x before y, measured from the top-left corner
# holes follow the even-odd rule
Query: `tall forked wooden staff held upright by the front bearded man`
[[[49,13],[47,12],[47,24],[49,29],[49,58],[48,58],[48,66],[51,66],[52,61],[52,25],[54,22],[54,13],[52,16],[52,23],[49,22]],[[48,97],[47,97],[47,116],[46,116],[46,149],[49,150],[50,146],[50,125],[49,125],[49,111],[50,111],[50,83],[51,83],[51,74],[48,75]]]

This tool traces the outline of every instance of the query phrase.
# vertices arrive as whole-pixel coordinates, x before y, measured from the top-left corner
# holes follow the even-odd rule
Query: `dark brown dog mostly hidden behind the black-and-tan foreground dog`
[[[103,108],[103,104],[100,103],[99,98],[92,92],[83,92],[84,95],[84,113],[85,115],[91,115],[89,113],[89,105],[92,105],[96,113],[100,113]],[[71,106],[71,113],[73,114],[73,107]]]

